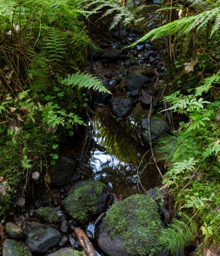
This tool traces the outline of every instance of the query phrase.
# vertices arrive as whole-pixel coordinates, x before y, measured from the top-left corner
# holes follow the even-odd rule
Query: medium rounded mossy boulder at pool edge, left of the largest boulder
[[[63,205],[73,219],[85,222],[106,210],[109,198],[110,192],[103,183],[83,181],[70,188]]]

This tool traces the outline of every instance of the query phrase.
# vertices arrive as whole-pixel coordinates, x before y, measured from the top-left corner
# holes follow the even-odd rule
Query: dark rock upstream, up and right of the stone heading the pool
[[[148,84],[150,79],[142,74],[130,73],[125,80],[125,88],[128,92],[140,89],[144,84]]]

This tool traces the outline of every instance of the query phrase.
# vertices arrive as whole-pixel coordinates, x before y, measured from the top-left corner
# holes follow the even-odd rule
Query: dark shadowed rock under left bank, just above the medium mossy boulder
[[[48,170],[51,185],[66,185],[66,183],[71,179],[75,168],[75,160],[69,157],[59,157],[57,163],[52,165]]]

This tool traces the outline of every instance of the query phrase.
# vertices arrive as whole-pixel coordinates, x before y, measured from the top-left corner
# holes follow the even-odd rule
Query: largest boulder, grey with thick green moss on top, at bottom
[[[99,228],[98,245],[108,256],[155,256],[163,227],[158,205],[135,194],[114,204]]]

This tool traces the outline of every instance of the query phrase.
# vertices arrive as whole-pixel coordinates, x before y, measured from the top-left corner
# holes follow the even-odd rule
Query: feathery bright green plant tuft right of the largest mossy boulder
[[[171,255],[190,245],[197,234],[197,225],[188,215],[180,212],[179,217],[172,219],[159,238],[161,246]]]

